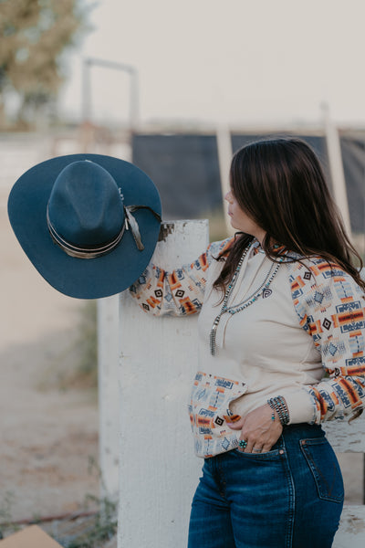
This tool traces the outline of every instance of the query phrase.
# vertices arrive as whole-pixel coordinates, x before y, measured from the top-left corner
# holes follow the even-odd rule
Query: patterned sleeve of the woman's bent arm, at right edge
[[[328,376],[305,386],[319,424],[365,405],[365,296],[337,265],[322,258],[306,263],[295,263],[290,281],[300,325],[312,336]]]

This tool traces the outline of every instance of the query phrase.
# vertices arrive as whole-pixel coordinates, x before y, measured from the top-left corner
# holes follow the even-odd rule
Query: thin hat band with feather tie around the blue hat
[[[130,228],[130,232],[134,238],[134,241],[136,243],[137,248],[142,251],[144,249],[143,243],[141,241],[141,233],[140,233],[140,227],[138,225],[138,222],[134,216],[131,215],[131,212],[134,212],[138,209],[149,209],[151,213],[159,220],[161,223],[161,216],[153,211],[149,205],[123,205],[124,208],[124,223],[120,229],[120,232],[118,235],[110,240],[107,244],[103,244],[102,246],[98,246],[95,248],[80,248],[78,246],[75,246],[74,244],[71,244],[67,240],[65,240],[63,237],[61,237],[58,233],[56,228],[52,225],[50,219],[49,219],[49,208],[47,205],[47,227],[49,230],[49,234],[51,235],[53,241],[61,248],[65,253],[67,253],[70,257],[74,258],[98,258],[103,255],[106,255],[107,253],[110,253],[114,248],[118,246],[120,243],[121,238],[123,237],[123,234],[125,230]]]

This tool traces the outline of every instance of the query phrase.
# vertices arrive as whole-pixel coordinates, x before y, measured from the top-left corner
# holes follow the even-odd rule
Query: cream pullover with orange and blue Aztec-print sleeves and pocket
[[[222,316],[211,355],[209,334],[222,306],[212,286],[224,264],[215,258],[233,241],[211,244],[172,272],[150,264],[130,288],[154,315],[200,313],[199,371],[189,404],[200,457],[236,448],[239,432],[226,419],[269,397],[286,398],[290,424],[351,416],[365,404],[365,296],[349,274],[322,258],[282,263],[268,291],[244,311]],[[271,265],[254,240],[229,306],[251,296]]]

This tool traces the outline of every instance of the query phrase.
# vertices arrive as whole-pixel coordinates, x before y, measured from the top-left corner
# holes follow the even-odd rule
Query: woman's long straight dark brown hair
[[[276,139],[246,145],[233,157],[230,183],[238,205],[266,232],[262,247],[268,257],[277,260],[272,245],[276,242],[283,246],[282,253],[324,258],[365,290],[358,270],[362,260],[346,234],[318,157],[306,142]],[[252,239],[245,233],[236,235],[214,282],[216,289],[225,290]]]

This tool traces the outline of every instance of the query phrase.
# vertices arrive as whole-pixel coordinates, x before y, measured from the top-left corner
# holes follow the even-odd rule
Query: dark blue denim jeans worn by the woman
[[[285,427],[267,453],[205,458],[188,548],[329,548],[343,481],[321,427]]]

